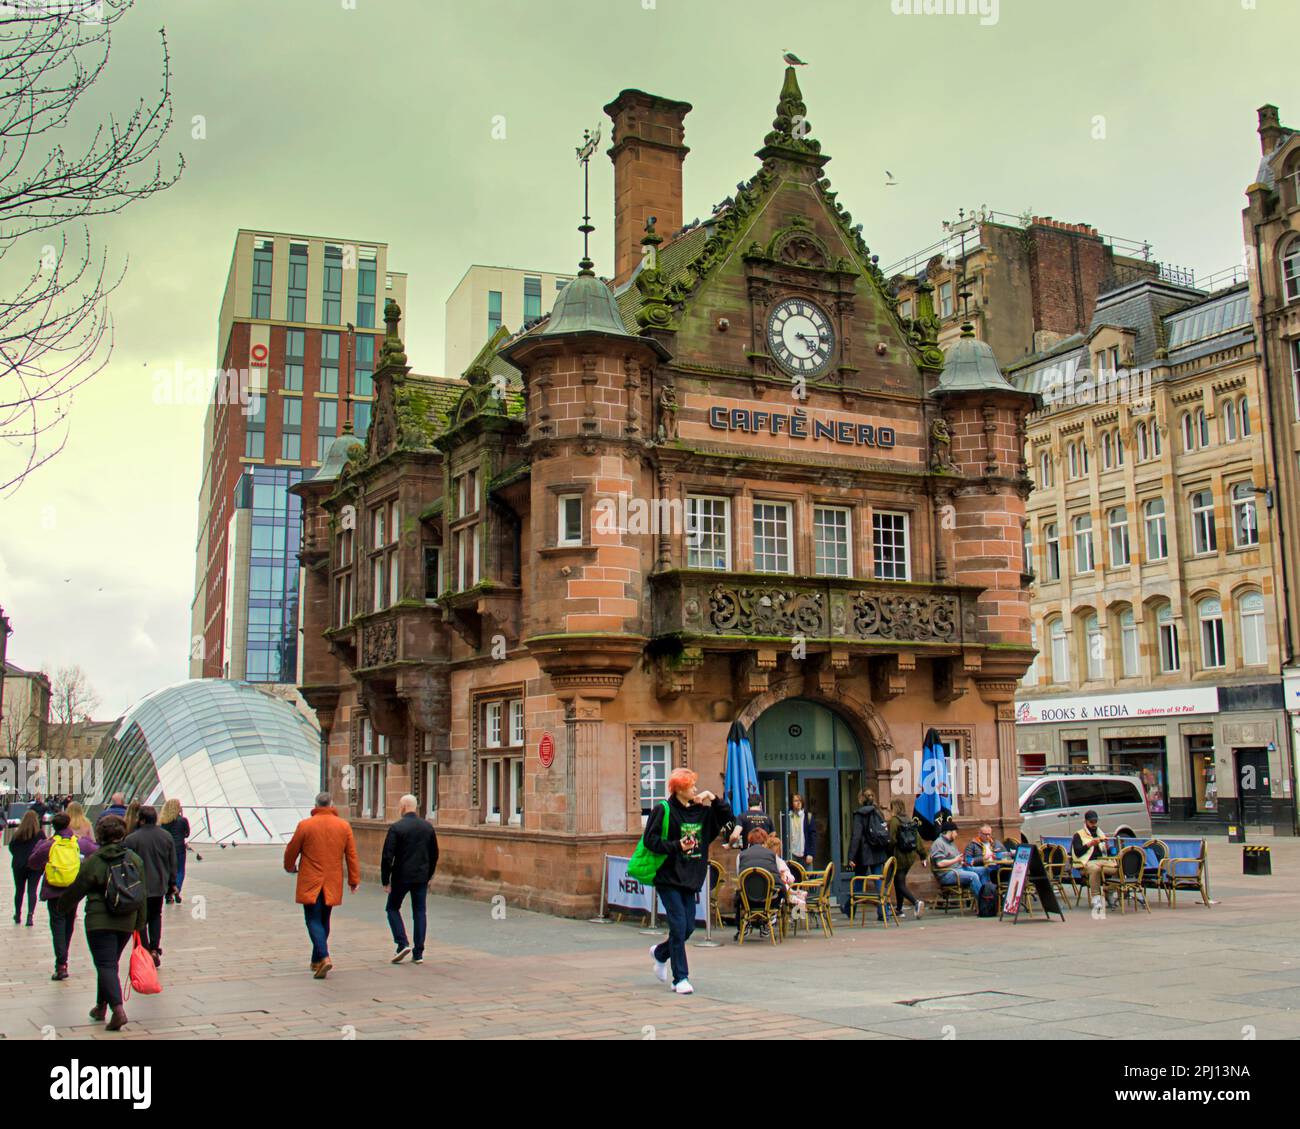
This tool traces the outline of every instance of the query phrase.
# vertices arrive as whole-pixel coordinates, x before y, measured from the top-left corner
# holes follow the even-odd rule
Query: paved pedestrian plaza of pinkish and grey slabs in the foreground
[[[204,848],[202,862],[191,856],[190,904],[166,908],[164,992],[133,998],[122,1034],[86,1016],[81,920],[72,978],[56,983],[44,909],[32,929],[6,913],[0,1037],[1297,1038],[1300,842],[1257,842],[1273,845],[1273,877],[1243,877],[1242,848],[1212,840],[1209,909],[1184,894],[1173,910],[1095,920],[1080,908],[1063,925],[927,914],[885,930],[837,917],[831,939],[779,946],[737,947],[727,930],[722,947],[690,950],[694,996],[655,981],[651,939],[632,923],[508,905],[502,917],[451,897],[429,900],[425,964],[393,966],[373,884],[335,910],[335,969],[315,981],[280,852]]]

